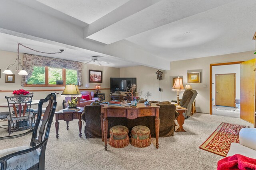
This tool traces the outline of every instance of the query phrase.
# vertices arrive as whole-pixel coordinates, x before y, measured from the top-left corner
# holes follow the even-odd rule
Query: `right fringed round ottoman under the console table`
[[[132,145],[138,148],[145,148],[151,144],[150,130],[146,126],[134,126],[131,132]]]

